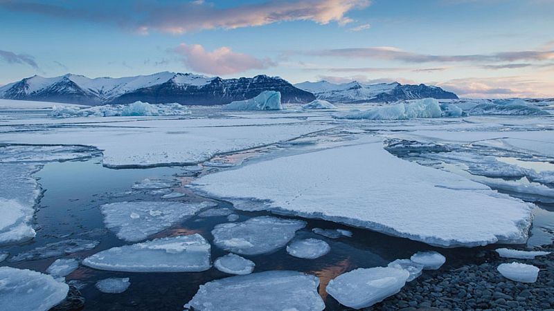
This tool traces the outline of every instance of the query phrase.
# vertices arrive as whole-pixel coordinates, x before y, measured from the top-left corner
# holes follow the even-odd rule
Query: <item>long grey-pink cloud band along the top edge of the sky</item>
[[[30,12],[62,19],[116,23],[137,33],[150,30],[180,34],[207,29],[234,29],[262,26],[282,21],[314,21],[319,24],[337,22],[345,25],[353,20],[350,10],[366,8],[370,0],[270,0],[231,8],[216,8],[204,1],[163,3],[143,1],[119,9],[106,4],[66,8],[52,4],[0,1],[0,7],[17,12]]]

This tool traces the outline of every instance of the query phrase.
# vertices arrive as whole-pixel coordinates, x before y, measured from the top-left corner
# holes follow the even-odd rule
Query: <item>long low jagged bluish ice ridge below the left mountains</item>
[[[78,109],[71,106],[52,106],[53,117],[134,117],[188,115],[190,110],[181,104],[149,104],[134,102],[132,104],[108,104]]]

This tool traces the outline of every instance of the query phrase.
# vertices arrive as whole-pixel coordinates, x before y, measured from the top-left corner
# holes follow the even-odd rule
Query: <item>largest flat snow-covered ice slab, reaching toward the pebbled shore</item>
[[[443,247],[522,243],[533,207],[401,160],[381,140],[255,162],[203,176],[190,187],[237,209],[323,218]]]

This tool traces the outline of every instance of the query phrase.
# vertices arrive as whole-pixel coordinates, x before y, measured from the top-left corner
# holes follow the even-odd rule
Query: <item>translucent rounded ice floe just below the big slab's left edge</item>
[[[223,223],[212,230],[213,243],[229,252],[258,255],[285,246],[296,230],[306,225],[302,220],[260,216],[243,223]]]

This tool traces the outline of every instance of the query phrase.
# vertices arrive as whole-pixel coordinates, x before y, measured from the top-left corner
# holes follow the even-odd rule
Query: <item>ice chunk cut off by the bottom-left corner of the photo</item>
[[[3,311],[46,311],[64,300],[69,286],[48,274],[0,267],[0,305]]]

